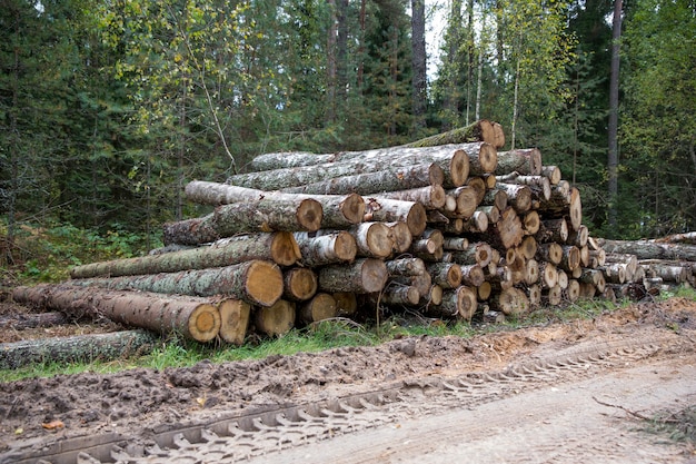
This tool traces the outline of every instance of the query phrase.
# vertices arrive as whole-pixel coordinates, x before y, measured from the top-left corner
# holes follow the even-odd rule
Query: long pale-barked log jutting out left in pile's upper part
[[[193,180],[186,186],[187,197],[202,205],[230,205],[236,203],[256,203],[261,199],[299,204],[305,199],[312,199],[321,204],[324,216],[322,228],[344,228],[362,221],[365,200],[357,195],[357,190],[347,190],[345,195],[301,195],[282,191],[265,191],[253,188],[230,186],[227,184],[206,182]]]

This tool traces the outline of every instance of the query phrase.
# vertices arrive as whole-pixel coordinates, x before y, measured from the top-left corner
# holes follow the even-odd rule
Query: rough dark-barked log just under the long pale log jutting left
[[[314,199],[288,203],[262,199],[223,205],[201,218],[163,225],[166,245],[199,245],[237,234],[274,230],[318,230],[324,210]]]

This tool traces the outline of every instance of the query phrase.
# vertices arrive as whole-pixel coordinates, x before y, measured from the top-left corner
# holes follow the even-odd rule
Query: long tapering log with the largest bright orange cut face
[[[211,269],[79,279],[70,283],[112,290],[137,289],[191,296],[227,295],[260,306],[270,306],[282,295],[282,273],[278,265],[258,259]]]

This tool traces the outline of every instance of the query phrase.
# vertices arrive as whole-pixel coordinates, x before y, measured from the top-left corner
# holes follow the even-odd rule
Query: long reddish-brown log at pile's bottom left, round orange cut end
[[[68,314],[103,316],[131,327],[162,335],[178,334],[198,342],[210,342],[220,332],[220,313],[207,298],[109,290],[72,285],[18,287],[18,303],[43,305]]]

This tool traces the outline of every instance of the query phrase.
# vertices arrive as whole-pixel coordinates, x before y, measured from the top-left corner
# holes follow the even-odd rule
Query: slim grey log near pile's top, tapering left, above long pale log
[[[288,194],[305,195],[370,195],[441,186],[445,182],[445,171],[435,162],[396,167],[382,166],[380,169],[287,187],[281,190]]]

